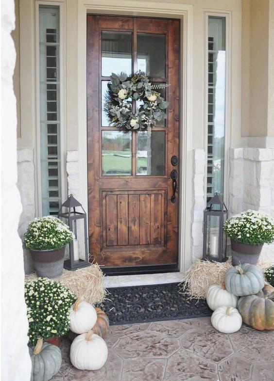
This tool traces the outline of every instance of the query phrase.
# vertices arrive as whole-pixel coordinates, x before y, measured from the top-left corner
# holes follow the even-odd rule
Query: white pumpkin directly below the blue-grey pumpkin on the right
[[[237,307],[238,297],[228,292],[219,285],[209,286],[206,292],[206,302],[208,307],[215,311],[216,308],[223,305]]]

